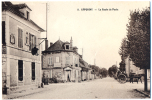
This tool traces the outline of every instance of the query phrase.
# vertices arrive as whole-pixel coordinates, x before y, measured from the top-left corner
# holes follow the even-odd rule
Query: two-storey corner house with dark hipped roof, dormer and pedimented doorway
[[[79,54],[77,47],[73,47],[73,40],[62,42],[60,39],[42,52],[43,77],[56,78],[61,82],[78,82],[81,80]]]

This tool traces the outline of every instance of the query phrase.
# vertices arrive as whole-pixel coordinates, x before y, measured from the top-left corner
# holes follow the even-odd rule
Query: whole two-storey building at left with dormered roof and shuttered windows
[[[2,82],[7,93],[37,87],[41,83],[40,33],[24,4],[2,2]],[[37,47],[38,55],[31,50]]]

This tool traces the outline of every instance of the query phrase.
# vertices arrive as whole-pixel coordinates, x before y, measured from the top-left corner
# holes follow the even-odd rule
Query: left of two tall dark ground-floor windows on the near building
[[[18,61],[18,80],[23,80],[23,60]]]

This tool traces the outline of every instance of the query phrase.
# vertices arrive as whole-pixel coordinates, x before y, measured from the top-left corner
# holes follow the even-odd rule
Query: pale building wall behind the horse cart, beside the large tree
[[[129,56],[125,59],[125,64],[125,71],[127,76],[129,76],[129,73],[144,74],[144,70],[136,67],[133,61],[129,59]]]

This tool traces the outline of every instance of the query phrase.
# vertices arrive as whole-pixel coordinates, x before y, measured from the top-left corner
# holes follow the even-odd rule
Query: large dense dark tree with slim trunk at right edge
[[[147,69],[150,69],[150,7],[130,12],[127,25],[128,54],[135,66],[145,69],[145,91],[147,91]]]

